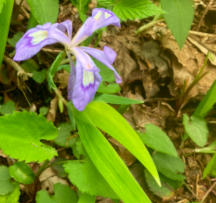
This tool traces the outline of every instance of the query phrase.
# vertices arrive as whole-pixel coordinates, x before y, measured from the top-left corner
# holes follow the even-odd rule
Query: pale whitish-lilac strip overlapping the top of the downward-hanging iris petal
[[[72,53],[80,61],[82,67],[89,72],[98,72],[99,69],[92,61],[91,57],[78,47],[73,47]]]

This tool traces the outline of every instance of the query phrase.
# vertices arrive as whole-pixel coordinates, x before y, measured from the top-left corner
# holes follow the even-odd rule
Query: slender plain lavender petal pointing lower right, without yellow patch
[[[113,49],[107,46],[104,46],[104,51],[90,48],[90,47],[79,47],[79,48],[82,51],[85,51],[86,53],[94,57],[95,59],[97,59],[98,61],[100,61],[101,63],[103,63],[104,65],[106,65],[109,69],[111,69],[115,74],[116,83],[122,82],[121,77],[119,76],[115,68],[111,65],[116,58],[116,53]]]

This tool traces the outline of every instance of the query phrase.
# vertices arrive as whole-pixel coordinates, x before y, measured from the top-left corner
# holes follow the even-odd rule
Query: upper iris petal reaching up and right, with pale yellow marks
[[[114,25],[120,27],[120,19],[116,15],[104,8],[95,8],[92,10],[92,17],[89,17],[83,26],[79,29],[72,40],[73,46],[79,45],[86,38],[91,36],[93,32],[99,28]]]

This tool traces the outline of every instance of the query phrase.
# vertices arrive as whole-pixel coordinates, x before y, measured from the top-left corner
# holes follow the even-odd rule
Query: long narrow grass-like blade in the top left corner
[[[4,52],[5,52],[5,46],[7,44],[7,37],[8,37],[8,32],[9,32],[9,27],[10,27],[10,20],[11,20],[13,5],[14,5],[14,0],[5,1],[2,12],[0,13],[0,39],[1,39],[0,67],[2,64]]]

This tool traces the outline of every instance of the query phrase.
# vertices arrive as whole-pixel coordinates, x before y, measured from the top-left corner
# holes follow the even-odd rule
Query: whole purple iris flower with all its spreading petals
[[[51,23],[46,23],[43,26],[38,25],[36,28],[28,30],[16,44],[16,54],[13,60],[27,60],[46,45],[57,42],[64,45],[71,65],[68,81],[68,99],[73,101],[76,109],[82,111],[94,98],[101,82],[99,69],[89,55],[110,68],[115,74],[117,83],[122,81],[112,66],[116,58],[116,53],[113,49],[104,46],[104,50],[101,51],[90,47],[78,46],[91,36],[95,30],[110,24],[120,27],[119,18],[109,10],[96,8],[92,11],[92,16],[85,21],[73,39],[72,22],[70,20],[53,25]],[[76,67],[73,65],[72,54],[76,57]]]

